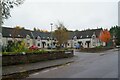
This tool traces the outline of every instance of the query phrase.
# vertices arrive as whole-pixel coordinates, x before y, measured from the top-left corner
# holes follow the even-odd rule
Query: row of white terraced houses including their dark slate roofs
[[[69,31],[69,39],[67,43],[68,48],[93,48],[96,46],[105,46],[105,43],[100,41],[99,36],[102,28],[88,29],[83,31]],[[14,38],[14,39],[13,39]],[[51,45],[56,47],[56,38],[51,38],[50,32],[32,31],[26,29],[2,27],[2,34],[0,34],[1,44],[6,46],[13,40],[22,41],[30,47],[33,44],[38,48],[50,48]],[[52,41],[51,41],[52,39]],[[64,47],[64,44],[63,44]]]

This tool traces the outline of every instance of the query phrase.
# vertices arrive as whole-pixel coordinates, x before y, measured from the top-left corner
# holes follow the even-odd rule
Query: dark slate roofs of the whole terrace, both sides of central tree
[[[76,36],[77,39],[80,39],[81,36],[82,36],[82,39],[83,38],[91,38],[93,33],[95,33],[98,37],[100,35],[101,30],[102,30],[102,28],[92,29],[92,30],[84,30],[84,31],[69,31],[68,32],[69,39],[73,39],[74,36]],[[33,38],[31,33],[33,33],[35,38],[40,36],[41,39],[47,39],[48,37],[50,38],[50,36],[51,36],[50,32],[39,32],[39,31],[31,31],[31,30],[26,30],[26,29],[2,27],[3,37],[11,37],[12,35],[14,35],[14,37],[16,37],[16,38],[19,38],[19,37],[26,38],[26,35],[29,35],[31,38]],[[10,34],[11,34],[11,36],[10,36]],[[54,35],[53,35],[53,37],[54,37]]]

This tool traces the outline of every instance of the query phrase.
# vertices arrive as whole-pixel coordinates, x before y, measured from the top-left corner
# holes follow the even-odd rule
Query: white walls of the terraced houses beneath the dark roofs
[[[20,41],[23,40],[26,43],[26,45],[25,45],[26,47],[30,47],[30,46],[33,45],[33,39],[29,39],[29,40],[27,40],[26,38],[16,38],[16,39],[20,40]],[[3,45],[7,45],[9,40],[13,41],[12,38],[3,37],[2,38]],[[72,40],[71,39],[71,40],[68,40],[68,44],[69,45],[67,45],[67,47],[68,48],[71,48],[71,47],[72,48],[76,48],[76,45],[79,45],[78,42],[82,42],[83,43],[83,47],[84,48],[88,48],[86,41],[90,41],[89,48],[93,48],[93,47],[100,46],[100,45],[105,46],[105,43],[101,42],[98,38],[96,38],[95,40],[93,40],[92,38],[86,38],[86,39],[76,39],[76,40]],[[43,42],[45,43],[44,44],[44,48],[51,47],[51,40],[38,40],[38,39],[36,39],[35,40],[35,45],[38,48],[43,48]],[[55,42],[55,41],[53,40],[52,42]],[[95,42],[94,46],[93,46],[93,42]],[[53,47],[56,47],[56,45],[54,45]]]

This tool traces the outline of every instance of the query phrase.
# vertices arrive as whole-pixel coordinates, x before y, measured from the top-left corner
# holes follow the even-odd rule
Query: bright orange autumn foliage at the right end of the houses
[[[100,34],[100,36],[99,36],[99,39],[100,39],[101,41],[107,43],[107,42],[110,40],[110,38],[111,38],[111,35],[110,35],[110,32],[109,32],[107,29],[101,31],[101,34]]]

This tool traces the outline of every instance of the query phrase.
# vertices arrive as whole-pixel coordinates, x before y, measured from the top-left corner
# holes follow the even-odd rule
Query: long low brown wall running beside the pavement
[[[68,52],[68,53],[67,53]],[[3,54],[2,65],[28,64],[32,62],[54,60],[60,58],[73,57],[73,50],[67,51],[43,51],[43,52],[27,52],[25,54]]]

